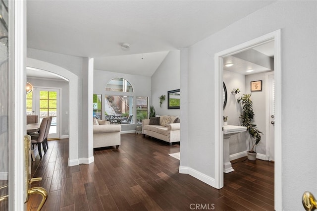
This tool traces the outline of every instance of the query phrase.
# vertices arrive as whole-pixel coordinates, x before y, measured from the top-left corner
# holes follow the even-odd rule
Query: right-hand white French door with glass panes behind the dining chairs
[[[59,89],[35,88],[35,113],[40,122],[43,118],[53,116],[49,139],[59,139]],[[34,102],[34,100],[33,100]]]

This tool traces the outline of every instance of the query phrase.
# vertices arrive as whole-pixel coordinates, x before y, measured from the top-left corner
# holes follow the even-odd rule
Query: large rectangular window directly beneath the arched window
[[[106,95],[105,119],[111,124],[133,124],[133,96]]]

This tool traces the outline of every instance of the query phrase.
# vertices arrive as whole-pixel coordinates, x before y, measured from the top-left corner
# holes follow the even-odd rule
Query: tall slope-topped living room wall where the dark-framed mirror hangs
[[[170,51],[158,69],[152,75],[152,104],[158,115],[179,115],[179,109],[167,109],[167,92],[179,89],[179,51]],[[159,106],[159,97],[165,95],[165,101]],[[182,90],[180,90],[182,101]]]

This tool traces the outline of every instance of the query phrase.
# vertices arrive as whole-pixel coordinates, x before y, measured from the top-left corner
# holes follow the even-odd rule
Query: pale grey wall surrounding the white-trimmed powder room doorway
[[[214,54],[281,29],[282,140],[275,141],[282,144],[283,210],[302,210],[304,191],[317,193],[316,11],[316,1],[277,1],[188,49],[188,73],[181,72],[188,78],[188,121],[181,127],[190,130],[181,129],[188,136],[182,166],[214,177]]]

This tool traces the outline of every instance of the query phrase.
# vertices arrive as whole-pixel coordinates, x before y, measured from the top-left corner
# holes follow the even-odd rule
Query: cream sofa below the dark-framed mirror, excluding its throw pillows
[[[148,135],[163,141],[168,142],[172,145],[173,142],[180,141],[180,123],[169,123],[166,126],[162,126],[164,116],[160,116],[159,125],[150,125],[150,119],[142,120],[142,134]],[[174,119],[178,118],[177,116],[171,116],[171,122],[174,122]]]

